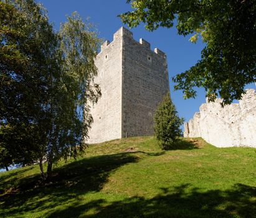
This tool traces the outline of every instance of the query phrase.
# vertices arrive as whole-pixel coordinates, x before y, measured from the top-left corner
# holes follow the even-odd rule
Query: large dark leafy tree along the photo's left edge
[[[48,84],[58,40],[34,1],[1,1],[0,11],[1,147],[12,162],[28,164],[47,141]]]

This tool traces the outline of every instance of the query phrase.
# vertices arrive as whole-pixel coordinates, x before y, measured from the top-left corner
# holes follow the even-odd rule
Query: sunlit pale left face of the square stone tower
[[[91,107],[93,124],[88,143],[121,138],[122,37],[123,31],[116,32],[113,42],[104,42],[95,59],[95,83],[100,85],[102,97]]]

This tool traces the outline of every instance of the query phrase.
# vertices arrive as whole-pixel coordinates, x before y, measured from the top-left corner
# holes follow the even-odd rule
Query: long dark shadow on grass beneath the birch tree
[[[95,156],[55,168],[52,182],[47,185],[40,182],[39,174],[22,178],[15,192],[0,196],[0,217],[19,216],[27,211],[40,212],[89,191],[100,191],[111,172],[136,161],[138,157],[132,153]]]

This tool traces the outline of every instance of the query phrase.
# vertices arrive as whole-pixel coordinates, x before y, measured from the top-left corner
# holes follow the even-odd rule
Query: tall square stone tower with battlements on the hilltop
[[[88,143],[153,135],[153,116],[169,92],[166,55],[121,27],[95,59],[102,98],[91,108]]]

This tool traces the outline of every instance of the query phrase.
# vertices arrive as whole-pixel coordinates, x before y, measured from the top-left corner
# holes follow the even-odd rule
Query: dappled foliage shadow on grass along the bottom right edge
[[[225,191],[201,192],[185,184],[173,190],[162,188],[161,191],[151,199],[131,197],[115,202],[98,199],[87,204],[73,204],[64,210],[51,212],[47,217],[256,217],[255,187],[235,184]],[[88,210],[95,213],[85,215]]]

